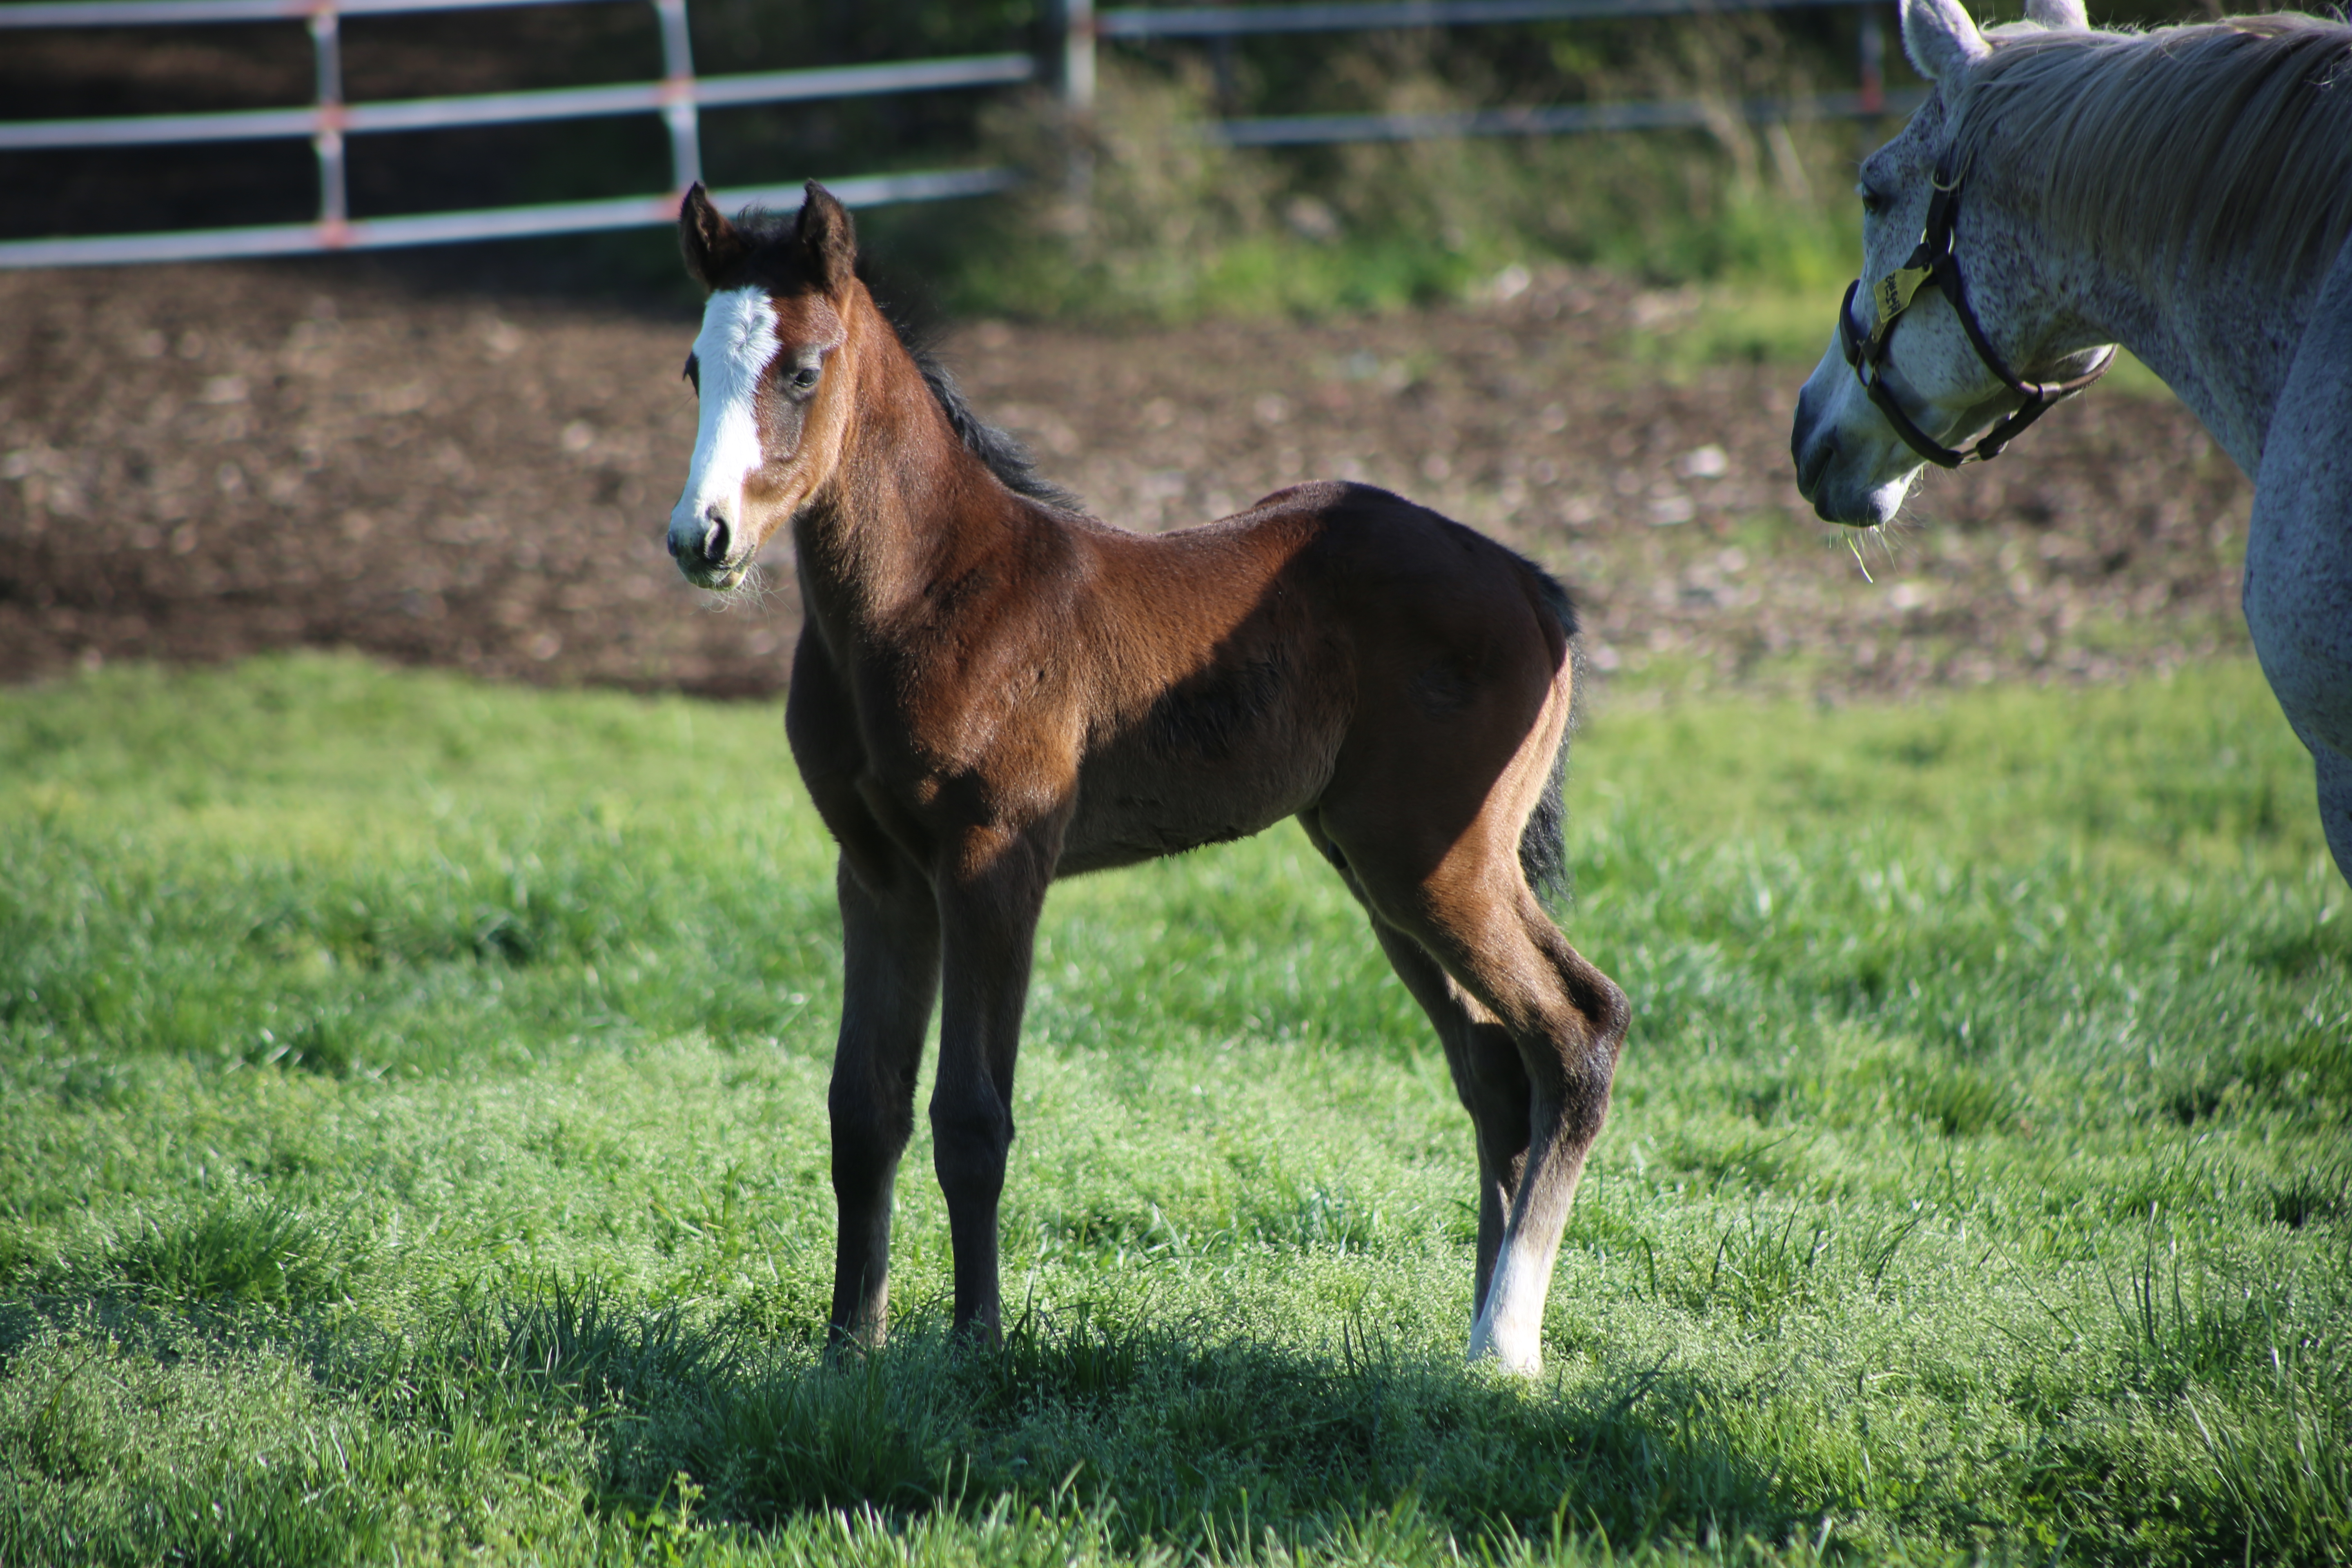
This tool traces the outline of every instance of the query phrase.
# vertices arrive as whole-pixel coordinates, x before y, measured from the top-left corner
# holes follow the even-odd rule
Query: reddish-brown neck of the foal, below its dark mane
[[[957,440],[870,299],[856,299],[854,322],[840,463],[793,520],[809,609],[847,630],[901,618],[1030,510]]]

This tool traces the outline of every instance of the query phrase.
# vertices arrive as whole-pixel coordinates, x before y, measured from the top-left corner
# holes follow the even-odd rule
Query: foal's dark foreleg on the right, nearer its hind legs
[[[1004,1331],[997,1199],[1014,1143],[1014,1058],[1051,849],[1021,839],[969,858],[983,856],[983,865],[943,877],[938,891],[946,971],[931,1164],[955,1246],[955,1331],[993,1345]]]

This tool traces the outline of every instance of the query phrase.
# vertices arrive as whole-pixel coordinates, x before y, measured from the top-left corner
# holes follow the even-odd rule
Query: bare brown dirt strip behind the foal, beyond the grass
[[[1590,665],[1630,691],[1837,701],[2244,646],[2251,487],[2178,404],[2093,390],[2002,463],[1931,475],[1900,531],[1849,538],[1790,475],[1802,367],[1628,353],[1684,306],[1559,270],[1376,320],[976,322],[943,346],[1117,524],[1345,475],[1512,541],[1576,588]],[[362,259],[0,273],[0,679],[348,646],[779,691],[788,557],[767,597],[717,604],[661,548],[691,331],[682,303],[419,287]]]

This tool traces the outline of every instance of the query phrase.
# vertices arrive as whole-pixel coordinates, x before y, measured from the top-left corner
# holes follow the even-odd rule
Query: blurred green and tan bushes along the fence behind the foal
[[[1329,59],[1305,96],[1256,92],[1249,108],[1421,115],[1529,101],[1526,85],[1430,49],[1425,35],[1371,35]],[[1555,54],[1578,63],[1564,47]],[[1663,52],[1630,66],[1585,61],[1566,78],[1552,75],[1555,96],[1576,87],[1592,101],[1691,99],[1708,127],[1228,148],[1204,132],[1218,103],[1230,106],[1230,82],[1197,59],[1105,54],[1087,120],[1049,94],[983,115],[993,155],[1028,181],[990,207],[978,235],[957,230],[953,303],[1009,315],[1312,315],[1458,296],[1541,261],[1656,284],[1818,292],[1844,275],[1853,235],[1832,165],[1846,127],[1752,127],[1738,113],[1745,99],[1809,92],[1769,21],[1693,21]]]

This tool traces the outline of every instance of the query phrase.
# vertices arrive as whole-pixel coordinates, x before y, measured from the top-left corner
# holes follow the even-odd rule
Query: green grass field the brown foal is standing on
[[[1635,997],[1534,1387],[1294,827],[1068,884],[1002,1354],[818,1356],[779,715],[353,661],[0,693],[0,1561],[2352,1561],[2352,917],[2249,665],[1597,703]]]

